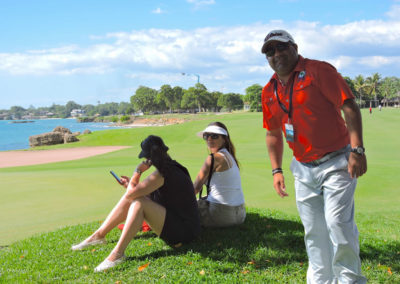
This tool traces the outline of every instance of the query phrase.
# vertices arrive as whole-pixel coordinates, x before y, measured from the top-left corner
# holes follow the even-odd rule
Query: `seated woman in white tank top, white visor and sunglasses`
[[[246,218],[246,209],[235,147],[228,129],[221,122],[213,122],[198,135],[206,141],[211,155],[207,156],[193,184],[196,194],[207,184],[212,156],[214,159],[210,192],[198,200],[200,222],[204,227],[241,224]]]

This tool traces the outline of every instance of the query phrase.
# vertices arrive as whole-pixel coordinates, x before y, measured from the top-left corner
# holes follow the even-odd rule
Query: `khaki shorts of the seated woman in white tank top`
[[[244,204],[228,206],[209,202],[204,199],[197,200],[199,207],[200,224],[204,227],[228,227],[239,225],[246,219]]]

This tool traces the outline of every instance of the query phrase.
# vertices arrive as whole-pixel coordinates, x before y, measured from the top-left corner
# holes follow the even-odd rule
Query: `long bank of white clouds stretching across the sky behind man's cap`
[[[112,74],[154,84],[182,82],[197,73],[206,85],[234,88],[266,82],[272,74],[260,53],[268,31],[287,29],[305,57],[332,63],[344,75],[400,72],[400,21],[358,21],[344,25],[271,21],[195,30],[149,29],[92,37],[88,47],[0,53],[0,71],[13,75]],[[391,73],[391,74],[389,74]],[[143,83],[144,84],[144,83]],[[211,87],[212,88],[212,87]]]

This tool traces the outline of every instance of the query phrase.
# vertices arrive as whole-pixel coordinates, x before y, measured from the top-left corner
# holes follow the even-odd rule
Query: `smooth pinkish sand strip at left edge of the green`
[[[6,151],[0,152],[0,168],[77,160],[125,148],[129,148],[129,146],[96,146],[54,150]]]

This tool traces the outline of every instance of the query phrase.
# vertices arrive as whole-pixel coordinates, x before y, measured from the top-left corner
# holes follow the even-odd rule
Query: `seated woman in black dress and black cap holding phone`
[[[197,202],[187,169],[171,159],[167,154],[168,147],[158,136],[148,136],[140,146],[139,158],[146,160],[137,166],[130,179],[121,177],[121,184],[126,187],[125,194],[91,236],[72,246],[72,250],[81,250],[104,244],[107,233],[125,221],[117,245],[95,272],[125,260],[124,252],[141,229],[143,220],[170,245],[190,242],[200,234]],[[140,181],[141,174],[152,165],[154,172]]]

